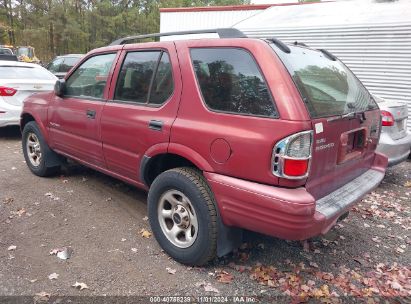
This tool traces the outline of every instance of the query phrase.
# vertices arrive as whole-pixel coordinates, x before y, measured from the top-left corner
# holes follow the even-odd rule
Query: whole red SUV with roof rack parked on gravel
[[[93,50],[21,116],[34,174],[70,158],[148,190],[157,241],[192,265],[230,252],[242,229],[290,240],[327,232],[387,165],[375,153],[378,106],[341,61],[216,32]]]

